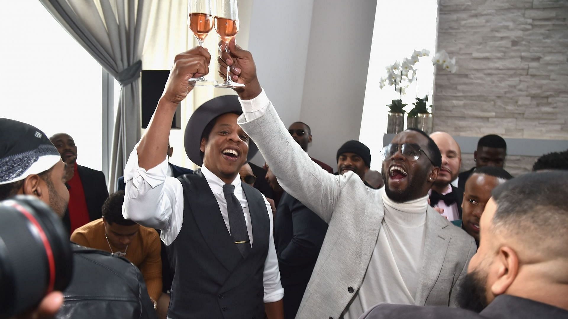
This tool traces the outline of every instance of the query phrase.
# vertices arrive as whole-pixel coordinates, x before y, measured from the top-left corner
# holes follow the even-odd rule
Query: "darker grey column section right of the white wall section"
[[[359,138],[376,6],[376,0],[314,1],[298,120],[312,129],[310,155],[334,169],[337,149]]]

